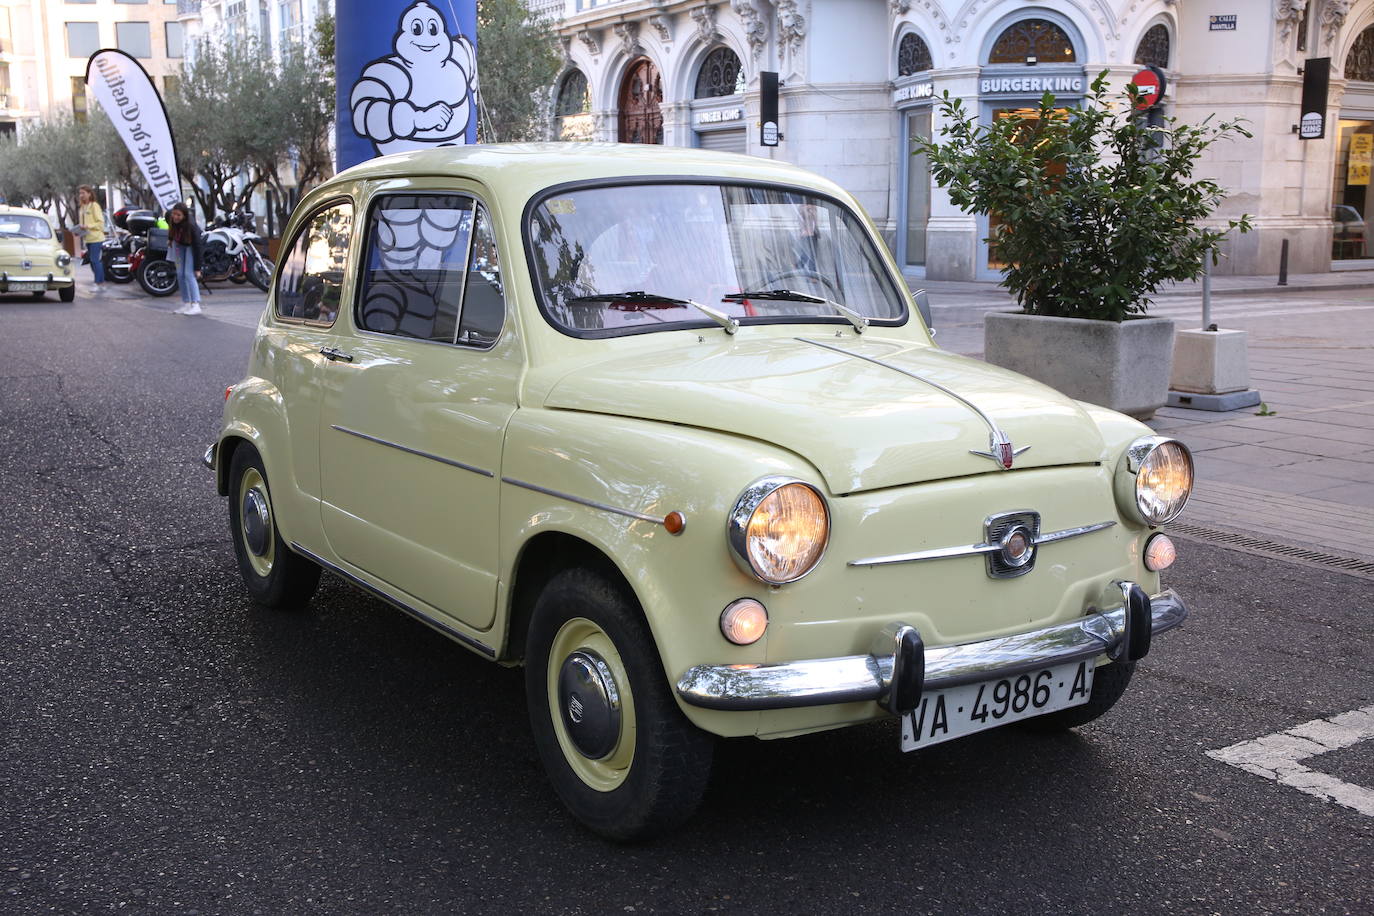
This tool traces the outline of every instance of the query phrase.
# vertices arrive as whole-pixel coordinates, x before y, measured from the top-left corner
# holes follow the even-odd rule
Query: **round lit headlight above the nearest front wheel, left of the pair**
[[[826,500],[809,483],[767,477],[750,485],[728,522],[735,560],[769,585],[796,582],[820,562],[830,538]]]

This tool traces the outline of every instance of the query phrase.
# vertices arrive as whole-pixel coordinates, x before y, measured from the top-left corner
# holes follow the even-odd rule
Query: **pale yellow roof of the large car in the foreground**
[[[528,198],[570,181],[620,177],[713,177],[769,181],[848,196],[834,183],[763,157],[639,143],[492,143],[414,150],[368,159],[334,183],[408,176],[475,179],[500,195]]]

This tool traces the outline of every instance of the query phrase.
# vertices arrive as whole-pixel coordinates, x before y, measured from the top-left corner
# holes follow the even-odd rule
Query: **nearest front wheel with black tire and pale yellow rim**
[[[578,655],[583,662],[588,655],[605,662],[603,673],[620,698],[618,729],[577,732],[587,743],[602,739],[591,753],[578,750],[570,725],[587,729],[598,721],[603,707],[596,694],[587,691],[583,703],[574,688],[566,702],[561,699],[559,674]],[[644,839],[697,810],[710,779],[714,739],[683,715],[639,606],[605,575],[565,570],[539,596],[526,641],[525,698],[554,790],[595,832]]]

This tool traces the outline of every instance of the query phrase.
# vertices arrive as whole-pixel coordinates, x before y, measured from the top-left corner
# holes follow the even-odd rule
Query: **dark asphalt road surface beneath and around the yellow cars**
[[[616,846],[519,672],[333,578],[247,602],[199,455],[250,338],[0,301],[0,912],[1374,911],[1374,816],[1205,754],[1374,703],[1370,580],[1182,542],[1194,617],[1101,722],[728,743],[695,820]]]

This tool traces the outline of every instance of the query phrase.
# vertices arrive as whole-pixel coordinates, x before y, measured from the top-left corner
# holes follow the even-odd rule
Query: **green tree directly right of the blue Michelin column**
[[[539,96],[559,69],[552,29],[521,0],[477,4],[477,76],[481,81],[482,143],[532,140],[539,136]]]

